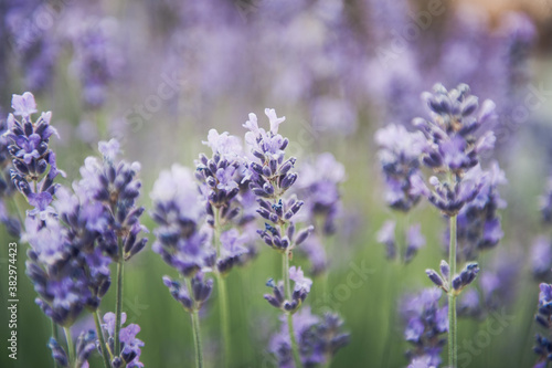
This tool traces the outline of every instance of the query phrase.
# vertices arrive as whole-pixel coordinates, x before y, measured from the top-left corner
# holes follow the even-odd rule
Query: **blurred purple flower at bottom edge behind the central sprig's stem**
[[[285,317],[285,316],[284,316]],[[295,367],[287,318],[282,318],[282,328],[270,338],[269,351],[278,360],[278,367]],[[312,315],[309,307],[293,316],[295,339],[305,367],[327,364],[336,353],[349,343],[349,334],[342,333],[343,322],[336,314],[322,318]]]

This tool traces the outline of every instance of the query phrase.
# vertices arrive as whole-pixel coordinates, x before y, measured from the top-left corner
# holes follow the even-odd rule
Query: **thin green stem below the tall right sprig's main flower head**
[[[448,248],[450,277],[456,275],[456,214],[450,217],[450,242]],[[450,285],[452,286],[452,285]],[[448,291],[448,366],[457,367],[456,343],[456,295],[453,287]]]

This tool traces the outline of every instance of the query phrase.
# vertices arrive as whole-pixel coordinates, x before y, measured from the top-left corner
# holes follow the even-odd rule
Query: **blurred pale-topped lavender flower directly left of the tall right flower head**
[[[402,125],[391,124],[375,133],[375,141],[385,175],[385,201],[393,209],[410,211],[422,196],[412,181],[420,177],[426,139],[420,132],[410,133]]]

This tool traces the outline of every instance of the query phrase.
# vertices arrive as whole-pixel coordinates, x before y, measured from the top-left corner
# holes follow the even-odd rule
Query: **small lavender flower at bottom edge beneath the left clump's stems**
[[[123,327],[125,322],[127,320],[127,314],[123,313],[121,315],[121,328],[119,332],[120,337],[120,356],[114,357],[112,360],[113,367],[126,367],[126,368],[142,368],[144,364],[140,362],[141,347],[144,346],[144,341],[136,338],[136,335],[140,332],[140,326],[137,324],[129,324],[126,327]],[[104,315],[104,324],[102,324],[102,328],[109,336],[108,345],[109,349],[114,351],[114,340],[115,340],[115,314],[106,313]]]

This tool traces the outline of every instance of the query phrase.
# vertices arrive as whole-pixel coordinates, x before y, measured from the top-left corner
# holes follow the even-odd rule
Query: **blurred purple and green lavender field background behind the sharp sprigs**
[[[11,95],[24,91],[36,96],[39,111],[53,112],[61,139],[52,146],[67,172],[64,185],[79,177],[98,140],[115,137],[126,159],[141,162],[140,202],[151,208],[149,192],[162,169],[192,167],[208,149],[201,141],[210,128],[243,136],[247,114],[265,107],[286,116],[280,133],[291,141],[289,155],[301,160],[329,151],[344,165],[343,210],[326,244],[329,286],[320,290],[315,278],[309,295],[314,312],[336,309],[351,334],[332,367],[407,365],[399,302],[429,286],[424,270],[444,257],[446,225],[435,209],[418,206],[411,215],[422,223],[426,246],[406,265],[385,260],[376,232],[397,214],[383,200],[373,135],[386,124],[426,117],[420,95],[435,83],[469,84],[480,101],[497,104],[493,158],[509,183],[501,189],[505,236],[479,259],[502,290],[485,316],[460,319],[460,354],[467,353],[460,362],[534,364],[538,284],[552,281],[550,272],[535,272],[537,261],[552,265],[552,233],[539,212],[552,174],[552,0],[3,0],[0,15],[0,117],[11,112]],[[548,261],[532,251],[539,235]],[[14,239],[0,228],[0,240],[6,341],[7,245]],[[267,345],[278,318],[263,294],[280,260],[261,241],[257,248],[257,259],[227,281],[232,367],[275,366]],[[20,252],[19,357],[12,361],[3,349],[0,366],[50,367],[50,325],[34,304],[24,259]],[[306,257],[297,264],[309,269]],[[365,277],[357,287],[350,278],[359,269]],[[189,316],[161,282],[172,270],[148,248],[126,271],[124,309],[141,326],[141,361],[191,367]],[[114,294],[103,305],[114,305]],[[202,328],[214,367],[219,311],[212,301]]]

